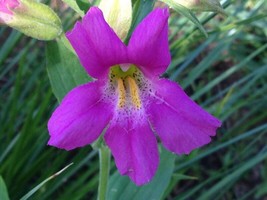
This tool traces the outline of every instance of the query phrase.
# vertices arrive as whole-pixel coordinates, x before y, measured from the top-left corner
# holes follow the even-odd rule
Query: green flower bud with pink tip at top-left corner
[[[34,0],[0,0],[0,23],[39,40],[52,40],[62,33],[56,13]]]

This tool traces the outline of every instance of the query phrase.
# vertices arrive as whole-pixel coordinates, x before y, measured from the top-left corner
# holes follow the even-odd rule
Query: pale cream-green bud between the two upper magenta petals
[[[132,22],[131,0],[102,0],[99,8],[111,28],[124,40]]]

